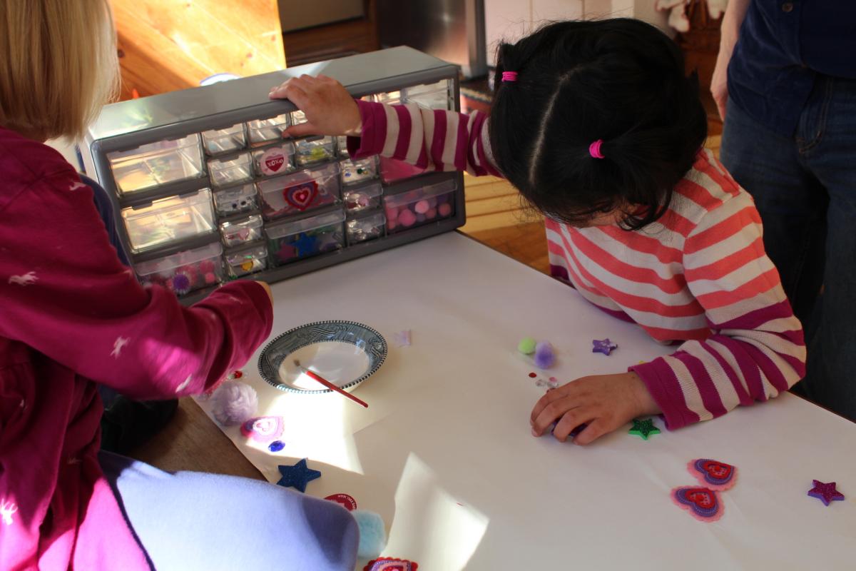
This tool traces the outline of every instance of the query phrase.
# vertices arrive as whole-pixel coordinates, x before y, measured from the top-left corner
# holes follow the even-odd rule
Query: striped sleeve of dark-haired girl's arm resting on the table
[[[710,336],[630,367],[669,429],[765,401],[805,374],[802,326],[764,253],[757,211],[746,193],[704,215],[687,236],[683,265]]]

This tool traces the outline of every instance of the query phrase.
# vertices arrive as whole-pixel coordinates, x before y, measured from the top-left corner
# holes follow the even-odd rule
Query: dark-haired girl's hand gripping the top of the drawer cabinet
[[[288,99],[306,115],[306,122],[282,132],[285,137],[308,134],[353,135],[362,131],[360,109],[341,83],[326,75],[300,75],[270,90],[271,99]]]

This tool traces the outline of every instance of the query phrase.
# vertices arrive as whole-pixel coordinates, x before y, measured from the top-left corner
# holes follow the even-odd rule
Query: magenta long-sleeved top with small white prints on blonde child
[[[247,362],[272,319],[254,282],[189,308],[141,287],[74,169],[0,128],[0,569],[149,569],[98,466],[96,383],[199,394]]]

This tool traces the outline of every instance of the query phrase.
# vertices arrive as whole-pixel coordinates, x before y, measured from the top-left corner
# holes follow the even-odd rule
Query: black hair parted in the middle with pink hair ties
[[[502,82],[503,71],[517,79]],[[675,42],[643,21],[550,23],[499,46],[494,80],[496,166],[559,222],[637,206],[625,228],[654,222],[707,136],[698,77],[685,74]],[[596,140],[604,158],[589,153]]]

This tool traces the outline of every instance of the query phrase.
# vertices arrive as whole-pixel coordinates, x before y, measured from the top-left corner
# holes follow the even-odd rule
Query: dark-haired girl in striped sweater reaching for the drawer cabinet
[[[576,379],[532,433],[591,443],[645,414],[670,429],[766,401],[805,372],[800,321],[764,253],[752,198],[702,148],[698,80],[641,21],[564,21],[499,48],[490,117],[354,102],[330,78],[270,92],[306,112],[286,135],[348,134],[427,170],[500,175],[544,213],[552,274],[675,353]]]

